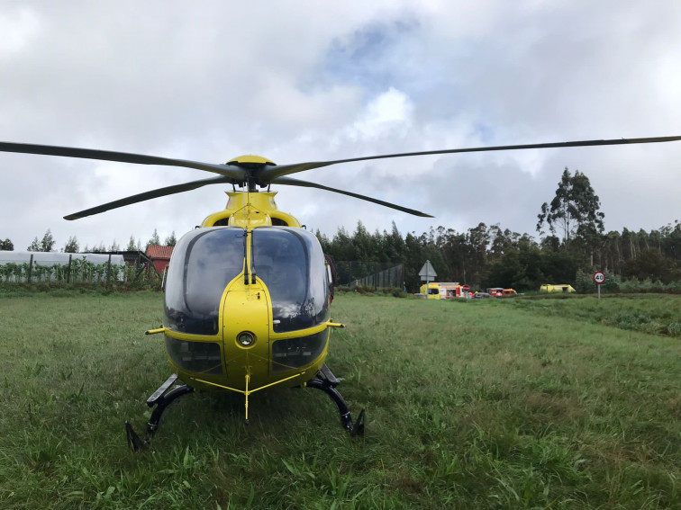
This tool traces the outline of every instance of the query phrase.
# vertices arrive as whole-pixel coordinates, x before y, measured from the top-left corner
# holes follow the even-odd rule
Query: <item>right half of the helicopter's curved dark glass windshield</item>
[[[302,228],[255,228],[251,264],[268,287],[276,333],[329,319],[328,274],[313,234]]]

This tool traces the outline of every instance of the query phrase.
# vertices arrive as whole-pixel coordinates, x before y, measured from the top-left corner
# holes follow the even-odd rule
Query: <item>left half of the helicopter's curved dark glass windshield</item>
[[[182,237],[170,260],[165,312],[168,327],[182,333],[217,335],[225,287],[243,270],[241,228],[201,228]]]

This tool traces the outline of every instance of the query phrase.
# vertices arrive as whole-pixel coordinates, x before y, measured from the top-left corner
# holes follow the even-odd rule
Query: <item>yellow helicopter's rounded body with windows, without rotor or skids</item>
[[[228,192],[227,208],[177,243],[165,287],[168,360],[199,390],[300,386],[320,371],[331,322],[316,237],[274,192]],[[248,396],[248,395],[247,395]]]

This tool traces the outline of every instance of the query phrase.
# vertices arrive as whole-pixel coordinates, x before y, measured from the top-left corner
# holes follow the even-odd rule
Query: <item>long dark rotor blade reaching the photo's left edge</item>
[[[104,161],[118,161],[121,163],[135,163],[139,165],[184,166],[205,170],[230,177],[236,182],[246,180],[247,172],[239,166],[215,165],[188,159],[174,159],[172,157],[146,156],[128,152],[114,152],[111,150],[96,150],[93,148],[58,147],[52,145],[36,145],[30,143],[0,142],[2,152],[21,152],[24,154],[41,154],[44,156],[82,157],[85,159],[100,159]]]

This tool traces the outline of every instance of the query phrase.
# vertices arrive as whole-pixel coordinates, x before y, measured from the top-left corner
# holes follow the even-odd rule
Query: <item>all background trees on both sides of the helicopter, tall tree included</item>
[[[588,283],[588,275],[601,270],[624,280],[681,282],[681,223],[638,232],[623,228],[604,231],[604,213],[586,174],[563,172],[554,198],[540,206],[537,216],[538,238],[495,224],[479,223],[458,232],[452,228],[430,228],[416,234],[391,230],[373,234],[358,222],[349,233],[339,228],[332,236],[317,231],[324,253],[336,261],[351,262],[344,267],[348,283],[390,264],[404,264],[408,291],[421,285],[418,272],[430,260],[440,282],[468,283],[474,289],[511,287],[518,291],[538,290],[542,283]],[[165,246],[175,246],[173,232]],[[156,229],[146,246],[160,245]],[[39,240],[35,237],[29,251],[54,251],[56,241],[50,230]],[[145,246],[145,247],[146,247]],[[10,239],[0,240],[0,249],[14,249]],[[141,241],[130,241],[128,251],[141,250]],[[118,244],[108,247],[85,246],[80,250],[76,237],[69,237],[61,248],[65,253],[119,251]],[[378,269],[377,269],[378,268]],[[586,282],[586,283],[585,283]]]

